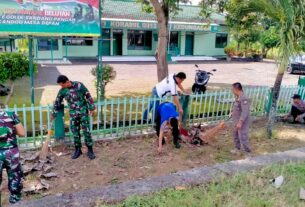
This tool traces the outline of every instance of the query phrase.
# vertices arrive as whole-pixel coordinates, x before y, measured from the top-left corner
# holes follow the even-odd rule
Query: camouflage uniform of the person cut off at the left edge
[[[8,188],[11,192],[10,203],[21,199],[23,177],[20,154],[17,146],[15,125],[20,124],[14,112],[5,112],[0,109],[0,184],[2,171],[5,168],[8,175]]]

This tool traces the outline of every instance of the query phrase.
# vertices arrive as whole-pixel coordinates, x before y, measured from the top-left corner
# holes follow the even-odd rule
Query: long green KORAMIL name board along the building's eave
[[[143,29],[143,30],[156,30],[158,24],[156,22],[140,22],[140,21],[116,21],[116,20],[102,20],[103,28],[113,29]],[[203,24],[186,24],[172,22],[170,23],[171,30],[174,31],[206,31],[217,32],[218,26],[216,25],[203,25]]]

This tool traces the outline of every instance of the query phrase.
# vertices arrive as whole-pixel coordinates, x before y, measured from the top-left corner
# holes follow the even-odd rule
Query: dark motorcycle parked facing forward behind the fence
[[[212,69],[210,72],[200,70],[198,65],[195,65],[198,70],[196,70],[195,83],[192,86],[192,91],[195,94],[203,94],[206,91],[206,86],[210,80],[210,76],[213,75],[212,72],[216,72],[216,69]]]

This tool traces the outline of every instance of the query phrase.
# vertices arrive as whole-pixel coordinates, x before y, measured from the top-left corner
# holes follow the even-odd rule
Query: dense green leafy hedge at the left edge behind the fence
[[[7,80],[15,81],[18,78],[30,75],[29,59],[22,53],[1,53],[0,54],[0,83]],[[37,65],[33,64],[34,72]]]

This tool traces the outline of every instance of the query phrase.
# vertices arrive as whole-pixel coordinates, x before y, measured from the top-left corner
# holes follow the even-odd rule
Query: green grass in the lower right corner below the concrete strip
[[[269,180],[283,175],[282,187]],[[305,163],[274,165],[187,190],[168,189],[146,197],[131,197],[116,207],[301,207],[300,187],[305,187]],[[97,204],[98,207],[110,207]]]

